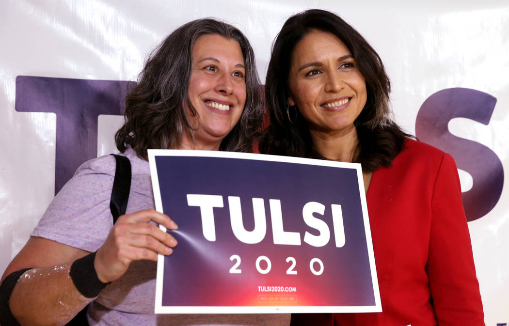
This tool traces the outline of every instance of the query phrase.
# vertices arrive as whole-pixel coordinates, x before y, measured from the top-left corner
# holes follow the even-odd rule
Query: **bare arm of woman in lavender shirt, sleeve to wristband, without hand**
[[[29,239],[3,276],[36,267],[20,277],[9,301],[20,324],[59,324],[51,319],[65,324],[93,300],[84,298],[69,277],[72,262],[88,253],[47,239]],[[37,314],[39,322],[31,313]]]

